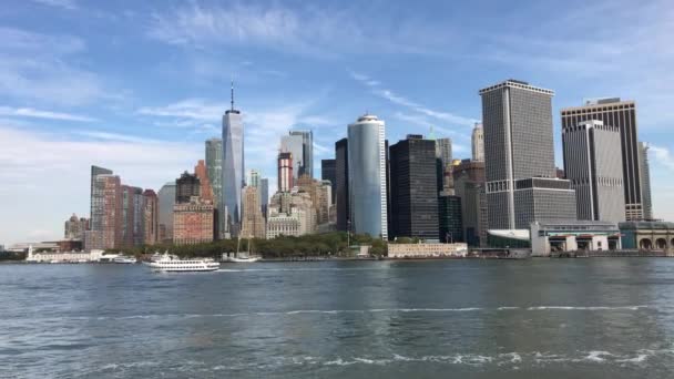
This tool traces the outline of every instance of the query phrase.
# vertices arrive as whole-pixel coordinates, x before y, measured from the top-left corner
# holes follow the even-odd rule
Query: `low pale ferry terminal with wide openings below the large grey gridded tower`
[[[579,250],[620,250],[617,225],[603,221],[531,223],[531,255]]]

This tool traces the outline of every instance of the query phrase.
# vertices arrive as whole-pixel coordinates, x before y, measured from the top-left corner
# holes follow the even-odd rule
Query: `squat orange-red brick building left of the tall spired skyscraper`
[[[173,243],[190,245],[212,242],[215,212],[212,203],[192,196],[173,206]]]

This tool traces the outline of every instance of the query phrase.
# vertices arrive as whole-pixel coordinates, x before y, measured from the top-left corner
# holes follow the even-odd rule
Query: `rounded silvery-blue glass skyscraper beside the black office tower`
[[[365,114],[348,126],[351,231],[388,238],[385,123]]]

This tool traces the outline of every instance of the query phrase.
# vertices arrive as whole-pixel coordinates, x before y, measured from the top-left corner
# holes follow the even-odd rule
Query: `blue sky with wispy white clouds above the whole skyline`
[[[674,4],[660,1],[84,1],[0,8],[0,244],[89,213],[89,166],[159,190],[219,135],[229,81],[246,165],[275,184],[279,136],[312,127],[315,166],[368,110],[396,142],[468,157],[478,90],[504,79],[635,100],[655,216],[674,219]],[[319,175],[317,170],[316,175]],[[274,188],[272,188],[274,190]]]

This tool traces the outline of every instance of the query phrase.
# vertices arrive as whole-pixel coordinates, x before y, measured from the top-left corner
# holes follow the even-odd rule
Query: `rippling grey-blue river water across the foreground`
[[[674,259],[0,265],[0,378],[673,378]]]

